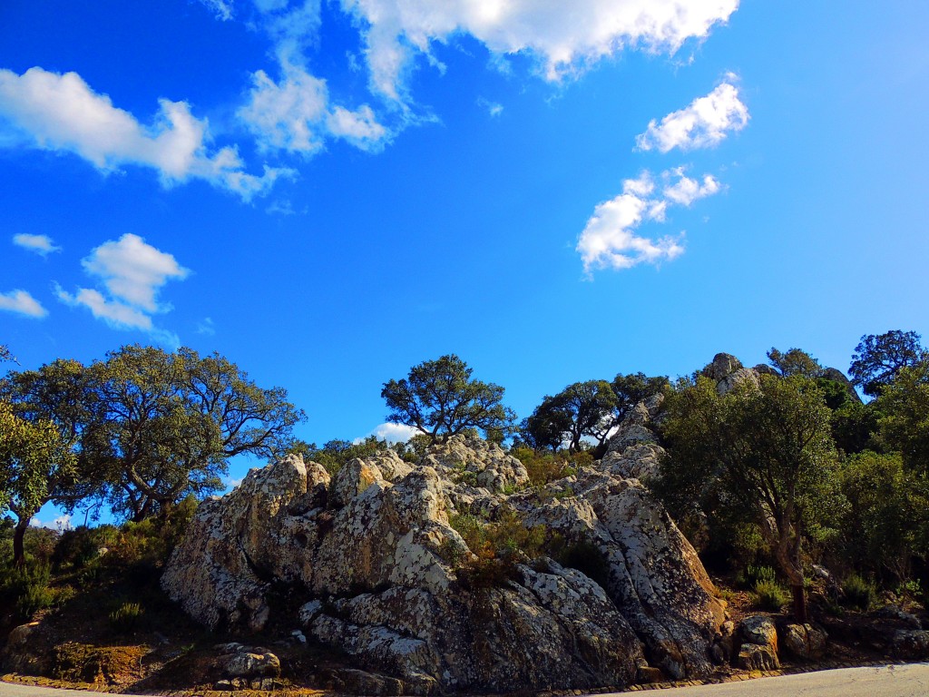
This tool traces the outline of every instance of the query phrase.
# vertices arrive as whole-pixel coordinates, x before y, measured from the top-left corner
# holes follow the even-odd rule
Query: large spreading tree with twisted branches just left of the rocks
[[[90,373],[104,414],[84,452],[108,463],[111,506],[134,520],[221,489],[230,457],[283,454],[304,418],[218,354],[126,346]]]

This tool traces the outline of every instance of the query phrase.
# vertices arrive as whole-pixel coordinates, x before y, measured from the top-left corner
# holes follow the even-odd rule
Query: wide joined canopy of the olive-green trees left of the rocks
[[[304,418],[284,389],[258,388],[235,364],[191,349],[59,360],[10,373],[0,396],[26,421],[52,424],[75,455],[76,479],[49,487],[46,501],[72,507],[93,495],[135,520],[221,489],[234,455],[283,454]]]

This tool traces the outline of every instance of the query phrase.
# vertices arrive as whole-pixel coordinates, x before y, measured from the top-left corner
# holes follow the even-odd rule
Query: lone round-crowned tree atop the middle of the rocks
[[[473,368],[458,356],[442,356],[384,384],[386,420],[412,426],[430,441],[445,441],[468,428],[509,433],[516,414],[504,407],[504,388],[473,380]]]

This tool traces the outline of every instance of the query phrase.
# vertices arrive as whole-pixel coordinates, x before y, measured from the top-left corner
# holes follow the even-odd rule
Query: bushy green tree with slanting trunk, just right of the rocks
[[[700,502],[707,517],[726,508],[753,521],[794,586],[804,583],[801,549],[825,535],[844,499],[830,411],[801,375],[762,375],[720,396],[699,376],[671,393],[663,435],[670,456],[657,489],[675,510]]]

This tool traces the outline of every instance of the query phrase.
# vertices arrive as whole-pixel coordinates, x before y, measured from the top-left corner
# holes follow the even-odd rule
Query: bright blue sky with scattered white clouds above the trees
[[[0,6],[0,341],[288,388],[309,441],[458,353],[527,415],[926,333],[929,6]]]

